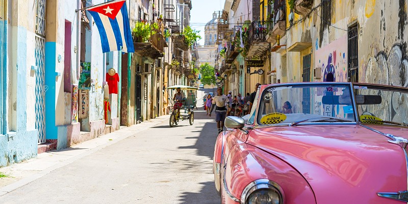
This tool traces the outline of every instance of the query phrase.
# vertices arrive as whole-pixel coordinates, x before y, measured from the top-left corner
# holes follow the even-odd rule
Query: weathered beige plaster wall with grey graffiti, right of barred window
[[[354,12],[360,23],[360,81],[407,87],[406,1],[359,2]]]

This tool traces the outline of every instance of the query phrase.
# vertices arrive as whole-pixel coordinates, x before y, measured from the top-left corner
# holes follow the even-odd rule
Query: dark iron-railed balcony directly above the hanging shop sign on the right
[[[269,50],[267,35],[271,23],[269,21],[254,21],[249,26],[249,50],[247,57],[260,57]]]

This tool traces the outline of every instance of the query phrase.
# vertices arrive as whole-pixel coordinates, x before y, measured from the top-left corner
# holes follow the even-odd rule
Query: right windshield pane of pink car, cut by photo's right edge
[[[408,125],[408,92],[381,86],[354,86],[360,121],[368,124]]]

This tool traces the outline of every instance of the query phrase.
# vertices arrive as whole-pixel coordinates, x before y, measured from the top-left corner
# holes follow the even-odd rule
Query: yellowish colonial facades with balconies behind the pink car
[[[239,87],[245,93],[254,91],[256,83],[331,80],[408,85],[406,2],[260,0],[246,4],[226,0],[221,16],[229,19],[227,31],[218,29],[223,40],[219,44],[226,48],[218,62],[227,75],[226,89]],[[248,66],[253,60],[263,66]],[[314,108],[298,106],[297,110]]]

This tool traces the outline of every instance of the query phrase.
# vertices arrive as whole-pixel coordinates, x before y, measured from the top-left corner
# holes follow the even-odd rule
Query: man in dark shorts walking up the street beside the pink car
[[[228,100],[228,97],[226,95],[222,94],[221,87],[217,88],[217,93],[218,94],[213,97],[213,104],[210,110],[210,117],[215,107],[215,121],[217,121],[218,134],[220,134],[224,129],[224,120],[227,111],[227,107],[225,106],[225,104],[229,106],[230,100]]]

